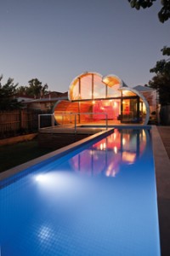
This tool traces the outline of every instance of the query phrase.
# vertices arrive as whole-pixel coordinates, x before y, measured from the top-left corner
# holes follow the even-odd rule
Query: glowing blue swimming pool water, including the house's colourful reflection
[[[1,183],[0,255],[160,255],[150,139],[115,130]]]

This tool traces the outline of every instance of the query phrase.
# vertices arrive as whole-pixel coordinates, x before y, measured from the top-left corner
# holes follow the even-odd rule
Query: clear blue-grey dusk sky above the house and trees
[[[157,0],[131,9],[127,0],[1,0],[0,74],[65,92],[80,73],[115,74],[128,86],[147,84],[150,68],[170,46]]]

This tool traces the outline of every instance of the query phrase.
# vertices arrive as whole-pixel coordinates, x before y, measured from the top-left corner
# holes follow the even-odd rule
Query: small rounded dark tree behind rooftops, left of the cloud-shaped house
[[[41,98],[45,94],[47,94],[48,84],[42,85],[38,79],[31,79],[28,81],[29,86],[27,87],[27,94],[30,96],[34,96],[35,99]]]

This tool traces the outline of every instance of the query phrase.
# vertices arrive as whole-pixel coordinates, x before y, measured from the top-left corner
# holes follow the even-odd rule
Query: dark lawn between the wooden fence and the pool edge
[[[43,154],[48,154],[53,149],[39,148],[37,139],[0,147],[0,172],[14,166],[19,166]]]

